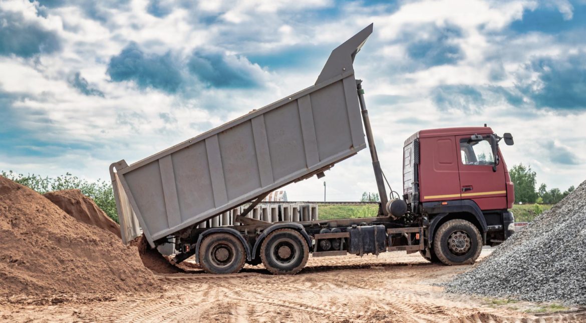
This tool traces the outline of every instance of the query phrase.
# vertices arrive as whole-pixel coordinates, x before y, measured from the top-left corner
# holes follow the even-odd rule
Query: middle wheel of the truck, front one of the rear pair
[[[260,257],[273,274],[297,274],[307,263],[309,248],[301,233],[278,229],[264,239]]]

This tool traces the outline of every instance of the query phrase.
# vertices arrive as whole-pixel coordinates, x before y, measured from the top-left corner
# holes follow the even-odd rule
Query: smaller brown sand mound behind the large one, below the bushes
[[[120,238],[120,226],[108,217],[96,203],[80,190],[54,191],[43,194],[71,217],[114,233]]]

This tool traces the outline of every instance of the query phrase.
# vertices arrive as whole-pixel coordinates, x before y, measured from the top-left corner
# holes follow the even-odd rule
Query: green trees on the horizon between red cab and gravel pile
[[[513,166],[509,170],[509,175],[515,184],[515,203],[556,204],[574,191],[574,185],[563,192],[559,188],[548,190],[546,184],[541,184],[539,188],[536,188],[535,171],[531,169],[531,166],[524,166],[522,163]]]

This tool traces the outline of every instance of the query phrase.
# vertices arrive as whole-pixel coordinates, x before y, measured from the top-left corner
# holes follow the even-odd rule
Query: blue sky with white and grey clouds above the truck
[[[0,169],[90,180],[315,83],[374,23],[355,61],[379,156],[400,190],[404,139],[488,123],[507,164],[586,180],[586,1],[0,2]],[[326,173],[328,200],[374,191],[366,150]],[[319,200],[323,180],[286,189]]]

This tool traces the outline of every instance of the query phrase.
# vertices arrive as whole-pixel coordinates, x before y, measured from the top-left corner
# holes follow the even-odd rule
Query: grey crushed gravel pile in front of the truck
[[[586,304],[586,181],[445,284],[453,293]]]

